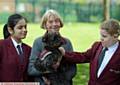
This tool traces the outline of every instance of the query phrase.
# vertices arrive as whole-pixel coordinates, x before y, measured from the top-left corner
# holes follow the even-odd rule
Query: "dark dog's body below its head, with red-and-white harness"
[[[58,67],[54,67],[54,66],[57,65],[57,63],[60,63],[62,59],[62,55],[59,52],[59,50],[55,50],[54,52],[44,50],[40,54],[40,57],[41,58],[39,57],[37,58],[35,62],[35,67],[37,70],[43,73],[51,73],[56,71],[59,65]]]

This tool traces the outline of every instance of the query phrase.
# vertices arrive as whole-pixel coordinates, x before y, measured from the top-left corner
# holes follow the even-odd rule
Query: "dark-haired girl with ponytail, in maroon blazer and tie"
[[[28,81],[31,47],[22,42],[27,35],[27,21],[21,15],[13,14],[9,16],[4,31],[5,39],[0,40],[0,81]]]

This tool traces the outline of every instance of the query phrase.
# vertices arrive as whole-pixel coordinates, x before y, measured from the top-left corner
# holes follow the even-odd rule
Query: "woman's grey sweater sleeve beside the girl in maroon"
[[[41,72],[34,67],[34,62],[36,61],[37,56],[39,55],[41,50],[42,50],[42,41],[41,38],[37,38],[33,43],[31,55],[29,58],[28,74],[31,76],[40,76],[41,74]]]

